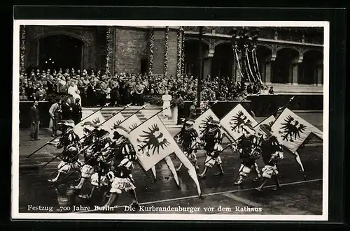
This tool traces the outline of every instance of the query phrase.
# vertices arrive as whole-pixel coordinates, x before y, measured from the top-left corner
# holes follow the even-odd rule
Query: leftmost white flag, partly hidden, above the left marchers
[[[74,126],[73,131],[78,135],[80,138],[84,136],[84,126],[86,124],[90,124],[90,126],[97,127],[100,124],[104,123],[106,119],[104,119],[104,116],[101,112],[94,113],[92,110],[83,110],[83,121],[80,121],[76,126]],[[91,115],[92,114],[92,115]]]

